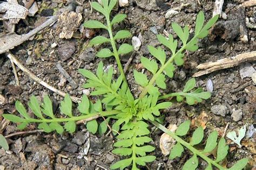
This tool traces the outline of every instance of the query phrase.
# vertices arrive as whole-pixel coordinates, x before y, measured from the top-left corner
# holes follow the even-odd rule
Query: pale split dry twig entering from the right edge
[[[212,73],[216,70],[231,68],[239,65],[242,62],[250,62],[256,60],[256,51],[238,54],[233,58],[225,58],[215,62],[205,62],[197,66],[199,72],[193,74],[193,77],[199,77],[201,75]]]

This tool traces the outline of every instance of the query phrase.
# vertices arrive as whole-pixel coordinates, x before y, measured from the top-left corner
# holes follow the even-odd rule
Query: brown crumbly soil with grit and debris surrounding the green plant
[[[76,18],[64,25],[58,21],[48,29],[39,32],[31,40],[11,49],[11,52],[21,61],[31,72],[40,77],[46,83],[59,90],[69,93],[71,96],[81,97],[84,93],[89,93],[82,85],[86,79],[78,73],[78,68],[96,71],[97,63],[102,60],[105,68],[112,65],[118,75],[117,64],[113,58],[99,59],[95,53],[100,47],[88,46],[89,40],[96,35],[107,36],[104,30],[85,29],[82,24],[88,19],[103,20],[95,10],[91,11],[88,1],[80,0],[74,2],[63,1],[43,1],[37,2],[39,11],[33,17],[27,17],[16,24],[17,34],[28,33],[34,27],[46,20],[46,17],[55,15],[59,9],[71,6],[76,12]],[[252,52],[256,49],[256,30],[246,26],[245,18],[252,18],[251,24],[256,24],[256,7],[244,8],[240,6],[243,1],[225,1],[223,12],[226,19],[219,19],[215,27],[210,31],[210,35],[200,40],[199,50],[193,53],[186,53],[185,63],[177,67],[173,79],[167,79],[167,89],[163,91],[181,91],[184,84],[198,70],[196,67],[203,62],[217,61],[218,59],[230,58],[237,54]],[[200,4],[199,4],[200,3]],[[125,13],[127,18],[121,24],[114,26],[114,31],[121,29],[130,30],[133,36],[139,37],[142,46],[138,51],[133,52],[133,59],[129,65],[126,75],[134,96],[140,93],[140,87],[134,83],[133,69],[141,70],[140,57],[151,58],[147,49],[148,45],[159,46],[156,34],[169,32],[173,34],[171,23],[176,22],[181,26],[188,25],[194,30],[196,15],[199,11],[205,13],[206,20],[212,17],[214,2],[198,1],[165,1],[165,0],[130,0],[124,7],[117,6],[112,15]],[[176,10],[176,15],[166,16],[169,9]],[[82,16],[82,22],[76,23]],[[75,28],[72,38],[59,38],[63,27],[73,26]],[[8,33],[1,22],[1,34]],[[70,35],[68,35],[70,36]],[[247,36],[248,41],[241,39]],[[175,36],[174,36],[175,37]],[[131,39],[119,42],[131,44]],[[170,52],[167,52],[167,55]],[[123,65],[129,60],[131,54],[122,56]],[[66,80],[59,72],[57,66],[60,65],[72,78],[72,82]],[[247,133],[242,140],[242,147],[227,140],[230,144],[230,152],[227,160],[224,161],[230,167],[241,158],[248,157],[250,162],[248,169],[251,169],[255,160],[255,110],[256,110],[256,86],[249,76],[242,76],[243,70],[248,68],[256,69],[256,63],[246,63],[237,67],[219,70],[208,75],[197,77],[197,86],[205,90],[211,88],[213,84],[212,97],[202,103],[190,106],[186,103],[173,104],[170,109],[164,111],[164,125],[177,124],[186,119],[192,120],[192,126],[197,123],[206,123],[206,134],[217,129],[219,135],[224,133],[224,129],[229,123],[228,131],[238,130],[246,124]],[[255,72],[255,70],[254,70]],[[0,105],[0,123],[3,112],[17,114],[15,101],[19,100],[27,105],[29,97],[35,95],[42,101],[44,95],[49,95],[53,101],[55,113],[59,114],[59,103],[63,97],[52,93],[49,89],[33,81],[26,73],[17,68],[19,86],[12,72],[10,60],[0,54],[0,94],[4,97],[4,102]],[[89,89],[90,90],[90,89]],[[93,97],[92,97],[93,98]],[[31,113],[31,112],[30,112]],[[102,119],[99,119],[99,122]],[[25,130],[35,130],[36,124],[30,124]],[[14,123],[5,124],[0,128],[6,136],[17,132],[17,125]],[[190,158],[190,152],[185,151],[181,158],[169,160],[164,157],[159,149],[160,130],[151,126],[152,145],[156,146],[154,155],[157,159],[151,164],[147,164],[147,169],[181,169],[184,162]],[[227,139],[227,138],[226,138]],[[111,153],[112,145],[116,138],[112,133],[103,136],[91,134],[86,131],[85,125],[79,125],[77,132],[73,134],[63,133],[33,133],[22,136],[8,138],[10,150],[0,149],[0,169],[109,169],[113,162],[120,158]],[[213,156],[211,156],[213,158]],[[198,169],[204,169],[206,162],[199,160]],[[254,167],[255,168],[255,167]]]

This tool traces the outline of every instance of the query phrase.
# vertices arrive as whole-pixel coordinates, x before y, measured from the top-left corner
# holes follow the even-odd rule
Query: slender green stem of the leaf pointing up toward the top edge
[[[116,43],[115,43],[114,38],[113,38],[112,25],[110,23],[109,16],[106,17],[106,22],[107,22],[107,31],[109,31],[109,37],[110,37],[111,46],[113,48],[114,58],[117,61],[117,67],[118,67],[119,72],[120,72],[120,74],[121,74],[121,76],[123,78],[123,81],[126,83],[127,87],[129,88],[127,80],[126,80],[126,77],[125,77],[124,69],[123,69],[122,63],[120,62],[120,58],[119,58],[119,55],[118,55],[118,52],[117,52]]]

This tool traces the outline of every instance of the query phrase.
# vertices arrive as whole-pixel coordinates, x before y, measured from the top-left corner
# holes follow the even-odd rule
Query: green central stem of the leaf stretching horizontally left
[[[88,119],[91,117],[95,116],[111,116],[111,115],[117,115],[119,114],[119,110],[111,110],[111,111],[103,111],[103,112],[98,112],[96,114],[90,114],[90,115],[83,115],[83,116],[74,116],[74,117],[68,117],[68,118],[53,118],[53,119],[26,119],[25,122],[45,122],[45,123],[50,123],[50,122],[70,122],[70,121],[80,121],[83,119]]]

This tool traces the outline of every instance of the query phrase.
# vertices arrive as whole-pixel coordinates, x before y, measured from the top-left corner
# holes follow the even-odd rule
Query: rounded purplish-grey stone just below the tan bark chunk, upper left
[[[75,51],[76,51],[75,42],[65,41],[64,44],[61,44],[58,47],[58,54],[59,54],[60,60],[62,61],[68,60],[69,58],[71,58],[73,53],[75,53]]]

